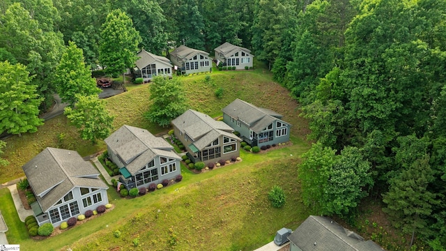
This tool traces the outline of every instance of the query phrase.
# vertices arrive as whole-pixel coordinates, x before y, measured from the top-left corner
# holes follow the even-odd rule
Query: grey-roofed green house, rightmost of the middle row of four
[[[240,132],[240,137],[251,146],[279,144],[290,139],[291,124],[270,109],[236,99],[222,111],[224,123]]]

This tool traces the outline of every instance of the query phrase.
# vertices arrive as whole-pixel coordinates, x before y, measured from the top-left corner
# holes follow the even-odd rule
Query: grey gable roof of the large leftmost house
[[[22,169],[44,212],[75,187],[108,189],[77,151],[47,147]]]

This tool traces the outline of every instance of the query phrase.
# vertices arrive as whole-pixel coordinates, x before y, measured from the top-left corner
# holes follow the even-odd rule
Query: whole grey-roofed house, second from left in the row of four
[[[174,147],[146,129],[121,126],[105,139],[105,144],[110,160],[121,172],[119,181],[127,189],[158,184],[181,174],[181,158]]]

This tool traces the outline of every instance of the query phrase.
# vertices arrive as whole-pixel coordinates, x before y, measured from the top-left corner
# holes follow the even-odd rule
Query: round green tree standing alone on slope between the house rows
[[[179,79],[157,76],[152,79],[151,100],[153,104],[144,114],[146,119],[162,127],[169,126],[172,119],[187,109],[183,86]]]

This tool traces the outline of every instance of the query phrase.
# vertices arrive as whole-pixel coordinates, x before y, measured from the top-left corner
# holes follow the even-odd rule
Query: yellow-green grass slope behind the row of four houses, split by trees
[[[289,91],[272,82],[272,75],[266,70],[213,71],[210,82],[206,82],[206,74],[180,77],[184,84],[188,105],[191,109],[209,114],[222,115],[222,108],[236,98],[252,102],[284,115],[283,119],[293,126],[291,134],[305,139],[307,123],[299,117],[298,104],[289,96]],[[161,128],[144,119],[144,112],[151,105],[150,84],[133,86],[130,91],[112,98],[107,98],[107,109],[115,116],[112,132],[124,124],[145,128],[157,135],[167,132],[169,128]],[[222,87],[222,98],[215,96],[215,89]],[[103,141],[92,145],[91,142],[79,138],[74,126],[68,126],[66,116],[60,115],[46,121],[36,133],[25,133],[22,137],[13,136],[6,139],[3,158],[10,162],[0,167],[0,183],[24,176],[22,166],[46,147],[58,147],[78,151],[87,156],[106,149]]]

